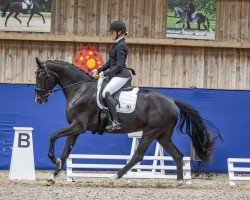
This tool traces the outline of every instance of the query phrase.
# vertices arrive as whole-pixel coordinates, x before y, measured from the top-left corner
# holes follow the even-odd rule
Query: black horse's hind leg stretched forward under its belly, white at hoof
[[[149,145],[157,136],[158,136],[157,130],[155,129],[151,129],[149,131],[144,132],[142,139],[129,163],[125,165],[120,171],[118,171],[115,177],[112,178],[113,179],[121,178],[125,173],[128,172],[128,170],[130,170],[134,165],[140,162],[143,159]]]

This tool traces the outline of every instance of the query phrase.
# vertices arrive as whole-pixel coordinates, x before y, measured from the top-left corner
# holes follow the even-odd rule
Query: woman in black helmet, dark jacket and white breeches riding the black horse
[[[106,127],[107,130],[113,131],[121,129],[121,124],[117,117],[116,106],[111,95],[122,88],[130,79],[131,74],[126,67],[126,59],[128,55],[128,46],[125,42],[126,26],[121,21],[111,23],[108,32],[115,43],[111,47],[109,60],[101,68],[93,70],[92,76],[103,73],[109,77],[109,83],[102,92],[103,98],[108,106],[111,114],[112,123]]]

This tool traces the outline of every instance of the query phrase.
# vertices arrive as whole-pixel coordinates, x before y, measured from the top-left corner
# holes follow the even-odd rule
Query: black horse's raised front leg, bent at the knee
[[[57,131],[51,135],[48,156],[51,159],[51,161],[56,165],[57,168],[60,169],[62,167],[62,162],[59,158],[55,156],[55,153],[54,153],[56,140],[60,137],[79,135],[84,131],[85,130],[83,130],[76,122],[73,122],[66,128],[60,131]]]

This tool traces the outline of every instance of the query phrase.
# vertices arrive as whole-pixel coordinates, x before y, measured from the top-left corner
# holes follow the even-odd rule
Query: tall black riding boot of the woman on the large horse
[[[114,103],[114,100],[109,92],[107,92],[105,94],[105,101],[106,101],[106,104],[108,106],[111,118],[113,120],[112,123],[106,127],[106,129],[108,131],[114,131],[114,130],[121,129],[121,124],[120,124],[118,117],[117,117],[115,103]]]

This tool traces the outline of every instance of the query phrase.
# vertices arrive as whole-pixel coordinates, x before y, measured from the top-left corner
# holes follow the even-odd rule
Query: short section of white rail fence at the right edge
[[[235,166],[235,163],[246,164],[249,163],[249,167]],[[250,159],[248,158],[228,158],[228,175],[229,184],[235,185],[235,181],[250,181]],[[248,176],[247,176],[248,175]]]

